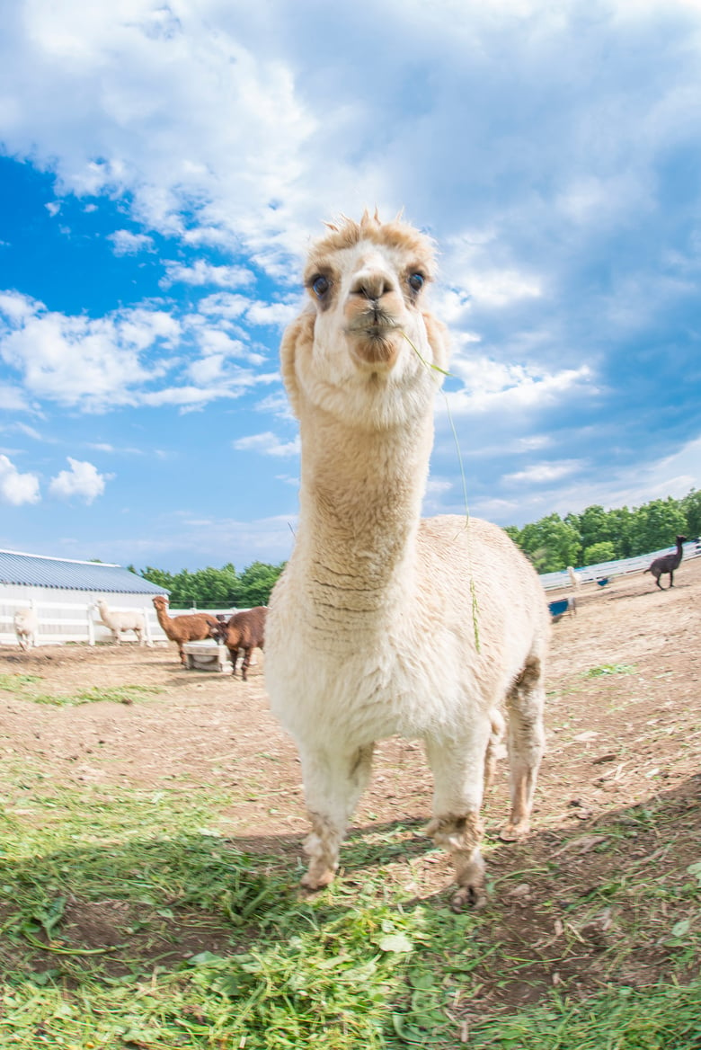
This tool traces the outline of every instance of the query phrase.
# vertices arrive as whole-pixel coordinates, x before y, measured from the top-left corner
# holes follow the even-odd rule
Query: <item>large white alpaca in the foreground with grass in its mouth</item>
[[[331,226],[312,249],[312,301],[281,346],[300,421],[300,517],[271,600],[265,682],[302,763],[303,885],[334,877],[375,741],[422,737],[434,780],[427,831],[452,854],[459,909],[484,899],[480,810],[505,701],[502,836],[529,830],[550,617],[505,532],[420,520],[440,378],[430,365],[447,364],[444,329],[422,304],[432,272],[427,238],[377,214]]]

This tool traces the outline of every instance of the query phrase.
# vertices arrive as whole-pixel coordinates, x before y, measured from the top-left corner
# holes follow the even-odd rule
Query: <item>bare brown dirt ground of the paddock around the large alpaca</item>
[[[569,593],[574,592],[548,596]],[[625,840],[632,865],[655,873],[672,865],[681,872],[701,860],[701,559],[681,565],[671,590],[662,592],[649,574],[636,574],[602,588],[580,587],[576,601],[576,615],[553,625],[548,752],[533,832],[525,843],[495,844],[507,810],[506,762],[485,812],[488,840],[494,844],[488,853],[490,876],[507,887],[494,936],[516,947],[528,945],[534,966],[541,967],[550,984],[572,976],[567,962],[555,973],[547,965],[549,945],[557,936],[553,901],[566,907],[568,898],[581,895],[582,888],[614,877],[619,855],[597,848],[608,822],[625,826],[628,821],[641,828]],[[46,693],[125,685],[163,692],[131,704],[51,707],[0,689],[0,755],[40,758],[46,776],[66,785],[157,789],[176,781],[193,792],[225,792],[233,800],[222,815],[225,834],[235,844],[289,854],[291,864],[299,855],[306,826],[300,769],[294,746],[268,709],[264,654],[257,654],[243,682],[182,669],[172,644],[153,649],[135,644],[47,646],[28,654],[0,648],[0,674],[18,673],[41,675]],[[13,792],[1,769],[0,791]],[[416,820],[418,838],[419,822],[429,818],[430,797],[421,746],[383,741],[356,826],[380,830]],[[640,807],[658,814],[647,830],[639,819]],[[668,828],[670,841],[675,840],[672,856],[660,828]],[[407,878],[417,898],[429,898],[449,884],[450,867],[429,840],[422,841],[425,847],[417,846]],[[547,873],[553,858],[557,874],[517,878],[523,870]],[[587,980],[589,967],[592,974],[600,973],[603,964],[597,957],[612,936],[606,914],[592,922],[591,930],[578,929],[581,948],[578,957],[570,953],[569,964],[578,981]],[[618,979],[653,979],[663,972],[664,963],[661,947],[646,950],[644,958],[633,954]],[[524,1001],[532,989],[533,981],[524,974]],[[514,998],[518,993],[512,988]]]

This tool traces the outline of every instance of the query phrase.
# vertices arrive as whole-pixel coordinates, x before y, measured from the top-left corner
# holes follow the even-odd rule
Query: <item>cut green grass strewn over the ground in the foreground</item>
[[[490,906],[455,916],[443,894],[416,898],[431,847],[411,825],[354,835],[345,876],[303,899],[296,848],[220,834],[225,794],[48,790],[37,768],[8,803],[3,1047],[701,1047],[701,857],[673,862],[663,806],[560,839],[545,866],[511,855]],[[576,881],[583,855],[595,885]],[[664,981],[625,980],[651,951]]]

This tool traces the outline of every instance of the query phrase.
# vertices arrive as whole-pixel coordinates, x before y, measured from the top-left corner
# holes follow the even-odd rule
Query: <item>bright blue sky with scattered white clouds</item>
[[[285,559],[277,349],[366,206],[440,248],[427,514],[464,510],[449,416],[502,525],[701,487],[700,0],[10,0],[0,547]]]

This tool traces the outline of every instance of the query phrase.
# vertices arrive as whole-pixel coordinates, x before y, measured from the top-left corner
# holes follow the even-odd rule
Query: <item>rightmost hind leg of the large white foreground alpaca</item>
[[[526,665],[507,697],[511,814],[500,837],[514,842],[530,830],[538,766],[545,751],[545,688],[538,657]]]

